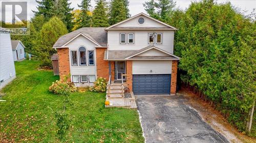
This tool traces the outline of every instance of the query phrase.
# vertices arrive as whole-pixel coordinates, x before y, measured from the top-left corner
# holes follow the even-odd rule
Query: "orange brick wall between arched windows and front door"
[[[109,62],[104,60],[105,48],[96,48],[97,76],[109,80]]]

